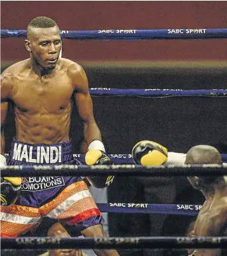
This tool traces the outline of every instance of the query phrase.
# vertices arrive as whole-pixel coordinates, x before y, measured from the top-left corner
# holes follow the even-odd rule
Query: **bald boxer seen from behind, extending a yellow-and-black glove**
[[[194,146],[187,154],[169,152],[167,148],[150,140],[135,144],[132,150],[135,164],[144,166],[161,164],[222,164],[222,156],[212,146]],[[226,177],[226,176],[225,176]],[[224,176],[189,177],[196,190],[201,190],[206,201],[200,209],[190,236],[227,235],[227,184]],[[220,250],[189,251],[192,256],[224,256]]]

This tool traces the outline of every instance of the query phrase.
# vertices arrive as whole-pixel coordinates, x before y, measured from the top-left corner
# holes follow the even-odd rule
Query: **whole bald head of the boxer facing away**
[[[187,152],[185,164],[222,164],[222,156],[212,146],[198,145],[190,148]],[[190,176],[188,180],[196,190],[203,190],[207,186],[218,182],[220,176]]]

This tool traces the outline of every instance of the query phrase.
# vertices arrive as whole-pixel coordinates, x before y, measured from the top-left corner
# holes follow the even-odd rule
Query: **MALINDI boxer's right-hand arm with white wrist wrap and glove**
[[[86,143],[86,151],[88,150],[85,157],[86,164],[112,164],[112,160],[106,154],[100,129],[94,119],[93,104],[88,90],[87,76],[81,66],[77,65],[74,67],[74,101],[76,102],[78,113],[84,125],[84,141]],[[88,180],[92,186],[104,188],[112,183],[113,176],[102,178],[92,176],[89,177]]]

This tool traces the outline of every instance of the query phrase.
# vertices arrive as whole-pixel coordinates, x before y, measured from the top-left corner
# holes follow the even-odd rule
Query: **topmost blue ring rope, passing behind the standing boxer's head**
[[[96,31],[60,30],[62,38],[87,41],[138,41],[153,39],[226,39],[227,29],[106,29]],[[27,37],[26,30],[1,29],[1,37]]]

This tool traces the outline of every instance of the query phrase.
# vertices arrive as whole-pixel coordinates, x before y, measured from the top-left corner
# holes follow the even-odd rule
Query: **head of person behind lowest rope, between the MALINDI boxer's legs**
[[[48,230],[48,237],[70,237],[60,223],[54,223]],[[80,249],[55,249],[49,250],[50,256],[82,256]]]

